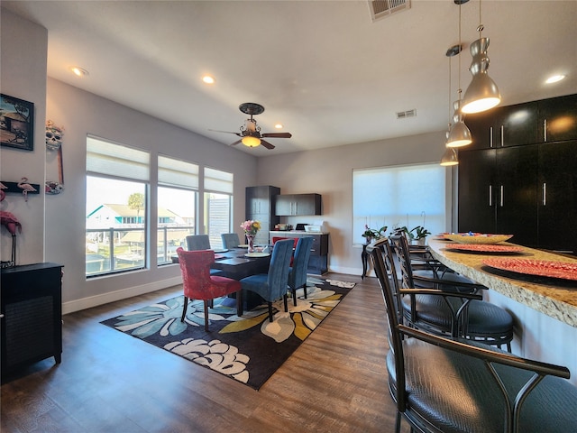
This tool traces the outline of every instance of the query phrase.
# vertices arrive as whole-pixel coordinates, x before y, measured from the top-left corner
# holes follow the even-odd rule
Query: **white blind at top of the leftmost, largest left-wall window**
[[[150,178],[150,153],[87,137],[87,172],[107,174],[133,180]]]

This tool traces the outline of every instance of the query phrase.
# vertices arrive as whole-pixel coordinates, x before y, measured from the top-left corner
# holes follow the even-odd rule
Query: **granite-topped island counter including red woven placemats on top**
[[[483,299],[511,313],[513,353],[567,366],[577,385],[577,257],[511,241],[475,247],[437,235],[427,244],[435,260],[487,287]]]

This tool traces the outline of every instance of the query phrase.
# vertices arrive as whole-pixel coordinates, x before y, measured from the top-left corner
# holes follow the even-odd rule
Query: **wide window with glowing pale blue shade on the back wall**
[[[364,226],[424,226],[445,231],[446,169],[438,164],[353,170],[353,244],[364,244]]]

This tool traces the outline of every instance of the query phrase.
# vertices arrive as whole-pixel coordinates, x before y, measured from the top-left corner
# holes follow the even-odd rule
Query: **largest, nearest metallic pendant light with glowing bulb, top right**
[[[487,69],[489,69],[489,56],[487,49],[489,48],[489,38],[482,38],[483,24],[481,23],[481,0],[479,0],[479,39],[472,42],[470,51],[472,55],[472,63],[469,70],[472,73],[472,81],[469,88],[465,91],[463,98],[463,106],[461,110],[463,113],[481,113],[487,111],[493,106],[498,106],[501,102],[501,95],[499,88],[495,84]]]

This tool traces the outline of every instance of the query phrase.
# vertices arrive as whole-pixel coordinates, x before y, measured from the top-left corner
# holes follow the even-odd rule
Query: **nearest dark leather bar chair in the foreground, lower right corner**
[[[389,322],[386,365],[397,433],[402,419],[423,433],[577,431],[577,388],[566,367],[404,325],[398,296],[431,290],[396,293],[394,262],[370,248]]]

